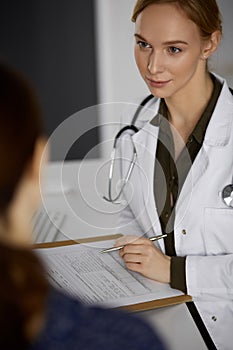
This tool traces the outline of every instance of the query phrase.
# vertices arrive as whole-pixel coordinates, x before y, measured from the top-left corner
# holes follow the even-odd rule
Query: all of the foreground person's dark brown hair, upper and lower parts
[[[0,216],[5,219],[19,181],[44,135],[30,83],[0,63]],[[7,220],[6,220],[7,222]],[[4,226],[7,235],[7,225]],[[0,349],[26,349],[27,327],[43,314],[48,283],[30,249],[0,243]]]

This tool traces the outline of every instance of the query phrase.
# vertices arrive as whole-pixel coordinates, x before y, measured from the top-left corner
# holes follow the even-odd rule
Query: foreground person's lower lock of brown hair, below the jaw
[[[40,330],[30,326],[44,316],[44,268],[31,250],[1,243],[0,276],[0,349],[26,350]]]

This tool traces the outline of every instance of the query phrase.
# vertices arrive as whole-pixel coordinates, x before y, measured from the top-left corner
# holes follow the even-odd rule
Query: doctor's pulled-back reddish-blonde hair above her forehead
[[[219,30],[222,33],[222,19],[215,0],[137,0],[133,10],[132,21],[152,4],[176,4],[200,30],[201,37],[208,39]]]

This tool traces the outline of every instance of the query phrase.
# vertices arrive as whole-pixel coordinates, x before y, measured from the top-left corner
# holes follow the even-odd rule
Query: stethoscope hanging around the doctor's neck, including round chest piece
[[[137,160],[137,151],[136,148],[134,146],[134,143],[132,141],[132,135],[136,134],[139,129],[135,126],[136,120],[138,119],[139,113],[141,112],[142,108],[147,104],[147,102],[149,102],[154,96],[153,95],[149,95],[147,96],[142,102],[141,104],[138,106],[132,122],[130,125],[126,125],[125,127],[123,127],[120,131],[118,131],[118,133],[116,134],[115,138],[114,138],[114,142],[113,142],[113,149],[111,152],[111,159],[110,159],[110,167],[109,167],[109,175],[108,175],[108,197],[107,196],[103,196],[103,199],[105,199],[107,202],[110,202],[112,204],[120,204],[121,202],[119,202],[119,198],[122,194],[122,192],[124,191],[125,186],[127,185],[127,183],[129,182],[130,176],[132,174],[132,171],[134,169],[136,160]],[[122,179],[122,185],[120,190],[118,191],[118,194],[115,195],[115,197],[113,196],[113,172],[114,172],[114,166],[116,163],[116,148],[117,148],[117,143],[120,139],[120,137],[122,136],[123,133],[125,133],[126,131],[130,131],[131,134],[131,142],[132,142],[132,147],[133,147],[133,157],[131,159],[128,171],[125,175],[125,178]],[[233,183],[226,185],[222,192],[221,192],[221,197],[222,200],[224,202],[224,204],[227,207],[233,208]]]

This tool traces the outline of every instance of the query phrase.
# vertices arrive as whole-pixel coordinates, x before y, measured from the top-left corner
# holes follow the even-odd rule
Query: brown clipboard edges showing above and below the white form
[[[121,234],[114,234],[114,235],[107,235],[107,236],[96,236],[96,237],[89,237],[89,238],[80,238],[77,240],[65,240],[65,241],[58,241],[58,242],[48,242],[48,243],[37,243],[33,245],[34,249],[43,249],[43,248],[55,248],[55,247],[63,247],[63,246],[69,246],[74,244],[82,244],[82,243],[91,243],[91,242],[100,242],[103,240],[113,240],[120,238]],[[166,306],[172,306],[182,303],[191,302],[192,297],[190,295],[184,294],[184,295],[178,295],[174,297],[169,298],[162,298],[152,301],[146,301],[143,303],[138,304],[132,304],[127,306],[121,306],[120,309],[124,309],[126,311],[130,312],[140,312],[140,311],[148,311],[156,308],[166,307]]]

